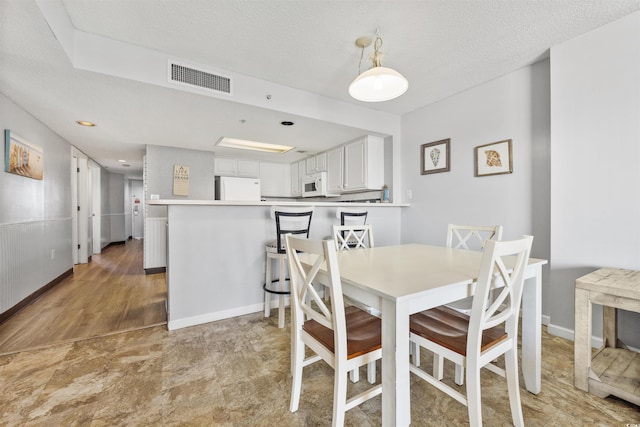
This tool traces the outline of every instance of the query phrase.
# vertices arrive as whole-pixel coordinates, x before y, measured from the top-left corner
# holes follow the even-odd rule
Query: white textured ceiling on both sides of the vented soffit
[[[640,10],[640,0],[46,1],[61,1],[87,33],[396,115]],[[122,157],[138,171],[144,144],[211,150],[219,136],[233,135],[317,151],[367,131],[74,69],[32,0],[0,0],[0,15],[0,91],[114,171],[124,172],[115,162]],[[376,29],[384,65],[400,71],[409,90],[367,104],[347,88],[358,73],[354,41]],[[82,118],[99,126],[73,124]],[[292,129],[277,125],[291,118]]]

